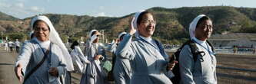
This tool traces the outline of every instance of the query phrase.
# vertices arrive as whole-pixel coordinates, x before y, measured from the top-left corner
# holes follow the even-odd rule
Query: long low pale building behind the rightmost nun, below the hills
[[[248,33],[230,33],[230,34],[213,34],[210,39],[214,47],[255,47],[256,34]]]

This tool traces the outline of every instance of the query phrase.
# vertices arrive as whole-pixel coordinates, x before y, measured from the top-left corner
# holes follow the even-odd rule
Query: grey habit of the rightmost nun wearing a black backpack
[[[199,44],[202,43],[195,37],[192,39]],[[181,84],[217,84],[216,58],[213,53],[208,53],[208,50],[204,49],[199,44],[196,44],[199,51],[204,51],[205,53],[202,57],[204,61],[200,59],[203,55],[203,53],[201,53],[194,62],[191,49],[188,45],[181,50],[178,61],[180,63]],[[208,46],[211,51],[212,47],[209,46],[209,44],[206,43],[205,46]]]

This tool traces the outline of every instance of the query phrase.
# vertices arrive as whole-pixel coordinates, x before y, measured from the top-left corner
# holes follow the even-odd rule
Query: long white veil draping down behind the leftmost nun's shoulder
[[[49,40],[52,43],[57,44],[58,47],[62,49],[62,54],[65,59],[67,70],[68,71],[74,70],[71,56],[68,53],[67,48],[63,44],[61,37],[59,37],[58,32],[55,31],[55,27],[53,27],[52,22],[46,16],[42,16],[42,15],[36,16],[35,18],[32,18],[32,21],[31,21],[32,29],[33,29],[33,25],[35,24],[35,21],[38,21],[38,20],[44,21],[46,24],[48,24],[48,27],[50,28]]]

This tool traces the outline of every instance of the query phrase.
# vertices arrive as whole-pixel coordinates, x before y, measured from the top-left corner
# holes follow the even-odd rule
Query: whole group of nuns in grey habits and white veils
[[[98,41],[101,33],[91,30],[84,50],[74,41],[68,52],[52,22],[46,16],[35,16],[31,40],[21,49],[15,41],[17,52],[20,50],[15,74],[24,84],[70,84],[72,72],[82,73],[80,84],[108,84],[109,75],[115,84],[217,84],[214,47],[206,42],[213,31],[211,18],[198,15],[190,24],[190,39],[198,51],[204,52],[196,61],[188,46],[182,48],[178,60],[171,60],[161,42],[151,37],[155,25],[151,12],[137,12],[129,31],[121,32],[107,49]],[[112,53],[111,71],[103,66],[111,57],[106,51]],[[177,63],[181,79],[171,80],[171,70]]]

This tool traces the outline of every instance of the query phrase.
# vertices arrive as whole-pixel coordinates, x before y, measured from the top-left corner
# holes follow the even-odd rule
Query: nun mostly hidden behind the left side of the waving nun
[[[121,32],[121,34],[118,35],[118,40],[115,41],[115,43],[111,44],[110,51],[114,53],[113,56],[113,76],[115,79],[115,84],[130,84],[131,80],[131,66],[130,66],[130,60],[124,59],[122,57],[115,56],[116,48],[118,47],[118,44],[121,40],[123,40],[123,37],[127,34],[126,32]]]

